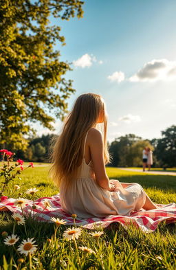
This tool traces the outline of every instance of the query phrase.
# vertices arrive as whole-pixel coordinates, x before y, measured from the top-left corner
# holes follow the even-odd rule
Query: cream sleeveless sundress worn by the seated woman
[[[88,132],[87,132],[88,133]],[[85,136],[85,143],[87,134]],[[85,144],[83,161],[79,175],[68,188],[61,183],[60,198],[63,210],[76,214],[80,218],[104,217],[109,215],[127,215],[140,210],[146,201],[146,193],[138,183],[131,183],[126,188],[118,180],[111,180],[115,190],[110,192],[101,188],[94,177],[92,161],[85,162]]]

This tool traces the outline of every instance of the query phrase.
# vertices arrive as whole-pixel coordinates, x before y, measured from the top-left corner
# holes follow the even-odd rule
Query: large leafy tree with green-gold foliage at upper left
[[[0,144],[25,148],[30,122],[52,129],[74,93],[71,70],[60,60],[65,45],[59,21],[83,16],[79,0],[0,0]],[[57,25],[50,18],[57,18]],[[56,21],[56,19],[54,19]]]

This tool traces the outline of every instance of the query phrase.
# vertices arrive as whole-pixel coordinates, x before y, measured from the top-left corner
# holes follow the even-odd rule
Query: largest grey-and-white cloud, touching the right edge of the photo
[[[155,82],[157,80],[173,80],[176,78],[176,61],[153,59],[131,76],[131,82]]]

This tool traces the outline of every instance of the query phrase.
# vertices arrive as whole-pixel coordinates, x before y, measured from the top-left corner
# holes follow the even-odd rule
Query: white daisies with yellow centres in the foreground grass
[[[36,190],[36,188],[30,188],[29,190],[26,191],[26,194],[30,194],[32,196],[32,198],[34,199],[34,194],[37,191],[38,190]],[[24,213],[23,213],[23,207],[25,207],[26,204],[28,204],[28,201],[26,199],[23,199],[23,198],[19,198],[19,199],[16,199],[16,201],[14,201],[14,205],[21,208],[22,214],[19,214],[19,213],[12,214],[12,218],[14,220],[12,234],[8,235],[7,232],[2,232],[1,235],[3,236],[3,238],[5,238],[4,244],[14,247],[14,250],[17,252],[18,256],[21,256],[21,255],[28,256],[29,266],[30,266],[30,269],[32,269],[32,260],[33,260],[32,256],[35,253],[35,251],[37,250],[37,245],[36,245],[36,240],[34,240],[34,238],[28,237],[27,229],[25,227],[25,218],[26,217],[24,216]],[[44,205],[43,210],[45,210],[45,208],[52,207],[50,205],[50,201],[47,199],[44,200],[43,205]],[[34,209],[34,208],[32,208],[32,209]],[[43,212],[43,211],[41,211],[41,212]],[[78,240],[80,235],[83,233],[83,229],[81,229],[80,227],[76,227],[76,218],[77,218],[76,214],[73,214],[72,218],[74,220],[74,227],[69,227],[69,228],[65,229],[65,231],[63,232],[63,240],[74,242],[76,256],[78,258],[78,262],[81,263],[80,262],[80,254],[79,254],[80,251],[82,251],[85,254],[85,256],[89,256],[89,254],[94,256],[94,255],[96,255],[96,252],[89,247],[84,247],[84,246],[78,247],[76,240]],[[52,237],[52,239],[47,239],[47,245],[52,245],[52,243],[54,243],[56,241],[56,233],[57,233],[58,229],[60,229],[61,226],[67,224],[67,221],[65,221],[64,219],[56,218],[54,216],[50,219],[50,221],[52,221],[52,223],[54,223],[55,228],[54,228],[54,236]],[[27,236],[27,239],[21,240],[19,238],[19,236],[17,236],[17,234],[15,234],[15,227],[18,225],[23,225],[23,227],[25,228],[25,234]],[[91,235],[93,238],[96,238],[97,241],[99,241],[99,238],[100,238],[100,236],[102,236],[102,234],[104,234],[104,232],[100,232],[100,231],[89,233],[89,235]],[[21,240],[21,243],[18,245],[20,240]],[[18,247],[16,248],[15,245],[18,245]],[[98,246],[99,246],[99,242],[98,242]],[[17,260],[18,264],[22,264],[23,262],[25,262],[25,260],[23,258],[19,258]]]

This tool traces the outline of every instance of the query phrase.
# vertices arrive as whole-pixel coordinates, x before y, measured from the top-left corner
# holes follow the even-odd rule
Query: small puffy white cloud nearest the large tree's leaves
[[[84,54],[77,60],[74,60],[73,64],[75,67],[82,67],[84,69],[85,67],[91,67],[94,62],[98,62],[100,65],[103,63],[102,60],[98,61],[93,54]]]

